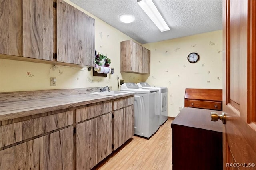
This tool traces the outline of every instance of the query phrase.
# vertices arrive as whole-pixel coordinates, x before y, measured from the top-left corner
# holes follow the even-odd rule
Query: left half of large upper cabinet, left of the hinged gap
[[[3,0],[0,53],[53,60],[52,1]]]

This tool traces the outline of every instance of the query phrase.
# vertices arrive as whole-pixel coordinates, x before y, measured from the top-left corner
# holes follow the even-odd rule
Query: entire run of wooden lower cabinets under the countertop
[[[0,170],[89,170],[133,135],[134,96],[0,122]]]

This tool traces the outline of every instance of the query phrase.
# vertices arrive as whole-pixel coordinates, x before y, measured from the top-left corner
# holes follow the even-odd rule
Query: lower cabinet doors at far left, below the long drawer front
[[[0,151],[1,170],[70,170],[73,168],[73,128]]]

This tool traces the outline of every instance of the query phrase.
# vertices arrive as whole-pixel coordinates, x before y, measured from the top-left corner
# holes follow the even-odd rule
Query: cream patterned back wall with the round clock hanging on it
[[[151,74],[142,80],[168,87],[168,116],[184,107],[186,88],[222,89],[222,30],[143,46],[151,51]],[[200,55],[197,63],[187,60],[192,52]]]

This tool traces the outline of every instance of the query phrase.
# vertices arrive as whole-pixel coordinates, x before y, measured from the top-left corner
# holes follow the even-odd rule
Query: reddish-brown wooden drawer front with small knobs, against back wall
[[[200,101],[187,99],[185,101],[186,107],[202,108],[202,109],[212,109],[212,110],[222,110],[222,102],[218,101]]]

